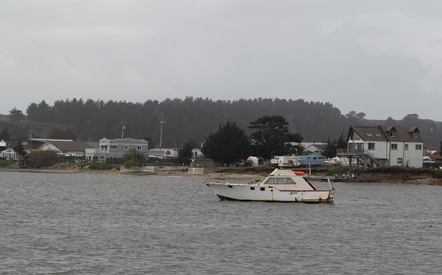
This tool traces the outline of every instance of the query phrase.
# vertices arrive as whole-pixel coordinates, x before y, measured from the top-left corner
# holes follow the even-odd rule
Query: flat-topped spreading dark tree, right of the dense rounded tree
[[[250,122],[249,129],[255,130],[250,135],[252,151],[262,158],[269,159],[271,155],[287,155],[296,150],[290,142],[302,142],[300,134],[289,132],[289,123],[282,115],[265,115]]]

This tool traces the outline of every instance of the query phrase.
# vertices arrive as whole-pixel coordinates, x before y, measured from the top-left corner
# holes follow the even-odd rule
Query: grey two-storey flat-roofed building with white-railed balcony
[[[140,151],[147,155],[148,142],[146,140],[133,140],[131,138],[117,138],[115,140],[108,140],[102,138],[99,140],[98,148],[93,146],[86,147],[86,161],[92,162],[96,159],[103,163],[120,163],[122,162],[124,154],[131,149]]]

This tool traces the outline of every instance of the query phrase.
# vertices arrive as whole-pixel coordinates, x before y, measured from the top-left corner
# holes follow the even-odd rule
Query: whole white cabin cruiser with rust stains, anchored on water
[[[265,180],[249,183],[209,182],[221,200],[256,200],[265,202],[311,202],[332,203],[334,187],[330,178],[325,177],[329,189],[317,190],[304,172],[289,169],[275,169]]]

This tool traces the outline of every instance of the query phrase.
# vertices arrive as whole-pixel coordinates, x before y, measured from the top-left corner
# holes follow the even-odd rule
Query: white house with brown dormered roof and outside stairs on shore
[[[347,135],[347,149],[338,149],[338,157],[374,166],[422,167],[423,140],[417,127],[356,126]],[[364,165],[365,167],[365,165]]]

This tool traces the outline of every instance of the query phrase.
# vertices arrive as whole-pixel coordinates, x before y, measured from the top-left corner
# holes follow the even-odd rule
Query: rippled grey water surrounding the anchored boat
[[[0,176],[1,274],[442,272],[442,187],[338,182],[305,205],[219,201],[205,178]]]

